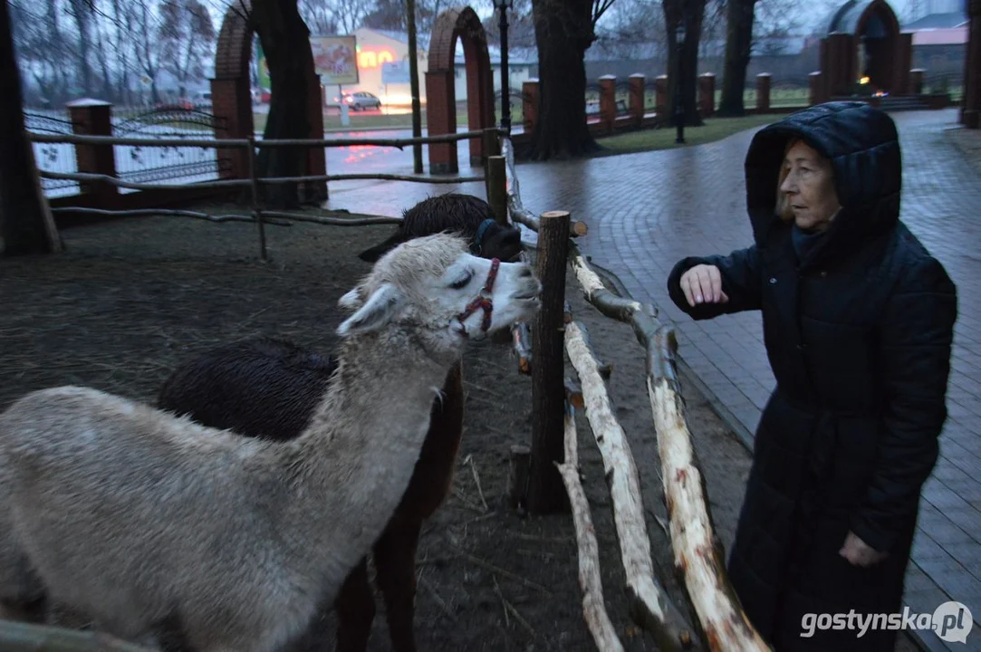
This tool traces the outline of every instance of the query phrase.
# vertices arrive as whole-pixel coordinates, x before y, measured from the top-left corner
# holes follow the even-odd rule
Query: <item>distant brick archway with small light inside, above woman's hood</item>
[[[909,92],[912,34],[901,31],[885,0],[849,0],[839,7],[821,39],[821,101],[852,95],[858,77],[868,74],[891,95]],[[860,48],[867,46],[866,70],[859,70]]]

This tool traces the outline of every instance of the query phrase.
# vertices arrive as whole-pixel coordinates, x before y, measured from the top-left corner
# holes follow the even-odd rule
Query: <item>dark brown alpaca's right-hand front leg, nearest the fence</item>
[[[416,547],[422,523],[400,519],[388,524],[375,543],[378,584],[385,596],[388,634],[395,652],[415,652]]]

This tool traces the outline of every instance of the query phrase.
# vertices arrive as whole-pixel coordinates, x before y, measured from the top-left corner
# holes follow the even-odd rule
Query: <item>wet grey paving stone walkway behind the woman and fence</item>
[[[981,173],[968,161],[970,150],[955,146],[958,133],[948,131],[956,127],[955,111],[894,118],[904,154],[903,220],[954,279],[959,310],[950,417],[941,459],[923,492],[904,602],[912,612],[932,614],[956,600],[979,619]],[[683,362],[749,446],[775,383],[759,314],[693,322],[671,303],[665,279],[685,256],[728,253],[751,243],[743,162],[752,133],[696,147],[518,168],[527,208],[568,210],[574,219],[586,221],[590,232],[581,240],[584,253],[618,276],[635,298],[658,306],[662,319],[676,322]],[[471,171],[462,161],[460,170]],[[480,169],[473,172],[480,174]],[[450,188],[483,196],[483,184],[477,183],[406,185],[338,185],[331,205],[349,200],[352,211],[397,215],[413,201]],[[966,645],[945,643],[932,632],[920,635],[932,650],[981,650],[978,630],[968,635]]]

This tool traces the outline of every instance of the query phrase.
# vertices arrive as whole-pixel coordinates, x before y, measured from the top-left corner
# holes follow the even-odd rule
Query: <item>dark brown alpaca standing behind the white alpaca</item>
[[[361,258],[377,260],[401,241],[442,230],[466,234],[472,250],[484,258],[508,261],[521,252],[520,232],[491,224],[490,206],[477,197],[433,197],[407,211],[405,219],[395,235],[362,252]],[[306,425],[335,368],[332,356],[288,342],[259,339],[232,344],[187,363],[170,376],[161,389],[158,406],[190,415],[205,426],[232,428],[244,436],[289,439]],[[416,649],[416,548],[422,524],[449,491],[462,429],[463,379],[457,364],[445,378],[441,401],[434,401],[430,429],[409,486],[373,546],[392,648],[398,652]],[[367,559],[347,577],[335,604],[324,605],[304,636],[290,643],[289,652],[313,652],[330,646],[326,626],[332,608],[338,619],[337,649],[365,650],[376,611]],[[165,645],[188,649],[174,627],[169,629],[165,636],[175,640]]]

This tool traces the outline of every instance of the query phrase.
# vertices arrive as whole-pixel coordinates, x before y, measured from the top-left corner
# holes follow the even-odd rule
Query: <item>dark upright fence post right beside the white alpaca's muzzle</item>
[[[542,309],[532,327],[532,461],[528,512],[567,510],[569,497],[555,462],[562,462],[565,439],[565,275],[568,265],[568,211],[542,213],[537,273]]]

